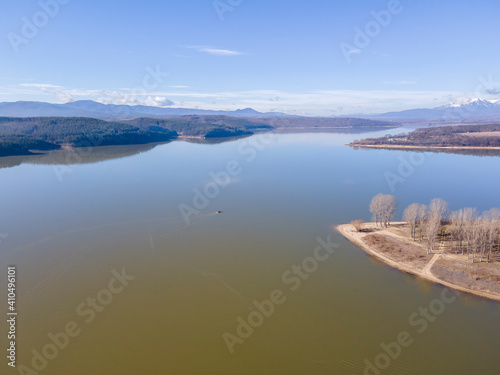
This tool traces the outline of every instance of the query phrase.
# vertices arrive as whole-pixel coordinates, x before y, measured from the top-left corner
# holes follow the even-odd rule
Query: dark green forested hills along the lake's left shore
[[[62,145],[109,146],[165,142],[180,136],[227,138],[273,127],[227,116],[105,121],[86,117],[0,117],[0,156],[29,155]]]

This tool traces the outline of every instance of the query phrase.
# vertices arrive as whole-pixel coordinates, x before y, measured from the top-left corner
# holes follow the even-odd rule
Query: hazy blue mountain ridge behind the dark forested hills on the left
[[[279,112],[261,113],[251,108],[238,109],[236,111],[209,111],[193,108],[162,108],[143,105],[102,104],[92,100],[79,100],[65,104],[24,101],[0,103],[0,116],[7,117],[92,117],[101,120],[111,120],[185,115],[224,115],[231,117],[288,116],[287,114]]]

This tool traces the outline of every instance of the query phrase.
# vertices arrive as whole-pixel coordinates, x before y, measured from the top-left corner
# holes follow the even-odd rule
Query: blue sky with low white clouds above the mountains
[[[1,102],[331,116],[500,98],[497,0],[0,0],[0,7]]]

